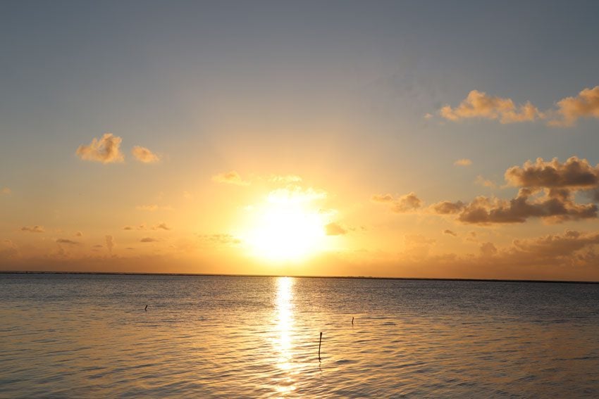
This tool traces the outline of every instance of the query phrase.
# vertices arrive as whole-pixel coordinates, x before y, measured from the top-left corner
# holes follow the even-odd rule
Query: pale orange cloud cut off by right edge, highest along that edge
[[[599,86],[583,89],[576,97],[557,101],[557,115],[549,121],[552,126],[573,126],[579,118],[599,119]]]

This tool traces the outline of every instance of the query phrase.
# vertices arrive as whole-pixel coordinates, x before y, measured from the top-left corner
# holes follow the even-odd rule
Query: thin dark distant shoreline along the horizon
[[[407,281],[479,281],[495,283],[553,283],[553,284],[599,284],[599,281],[575,280],[527,280],[527,279],[450,279],[435,277],[373,277],[373,276],[296,276],[283,274],[220,274],[220,273],[142,273],[142,272],[44,272],[23,270],[0,270],[0,274],[89,274],[125,276],[187,276],[187,277],[293,277],[297,279],[364,279]]]

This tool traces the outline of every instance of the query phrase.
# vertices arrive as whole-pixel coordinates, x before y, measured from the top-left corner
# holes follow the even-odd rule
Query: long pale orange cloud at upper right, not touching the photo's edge
[[[459,103],[459,106],[455,108],[448,105],[443,106],[439,113],[443,118],[454,122],[469,118],[480,118],[499,120],[501,123],[514,123],[528,122],[545,117],[530,102],[516,107],[511,99],[488,96],[485,92],[478,90],[470,91],[466,99]]]

